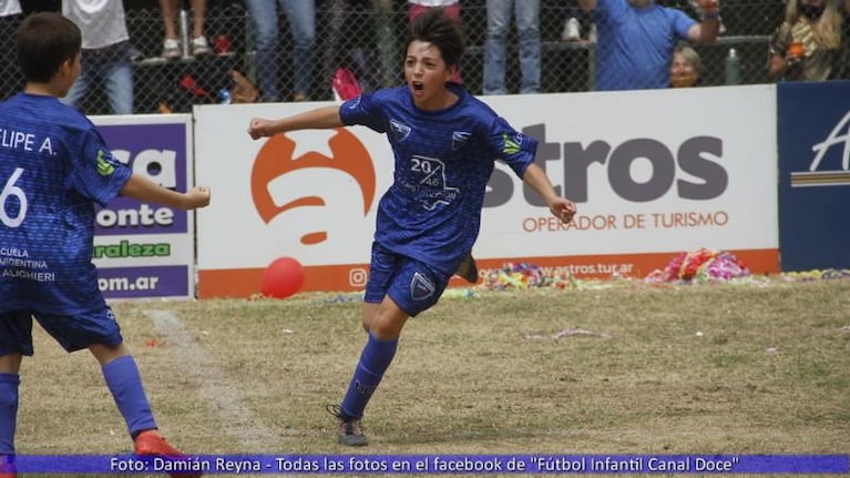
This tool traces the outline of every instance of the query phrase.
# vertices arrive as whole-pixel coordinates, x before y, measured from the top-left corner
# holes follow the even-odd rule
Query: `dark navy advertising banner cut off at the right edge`
[[[850,81],[778,87],[782,271],[850,267]]]

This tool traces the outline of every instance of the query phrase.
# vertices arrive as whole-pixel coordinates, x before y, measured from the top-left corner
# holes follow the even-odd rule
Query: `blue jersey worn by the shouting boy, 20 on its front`
[[[407,87],[363,94],[339,110],[345,124],[386,133],[392,145],[393,182],[378,206],[375,240],[443,274],[472,250],[494,162],[522,177],[537,148],[490,106],[450,88],[459,100],[441,111],[418,109]]]

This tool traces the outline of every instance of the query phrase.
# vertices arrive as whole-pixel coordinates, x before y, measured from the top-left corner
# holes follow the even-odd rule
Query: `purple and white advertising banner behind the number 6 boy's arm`
[[[134,173],[180,192],[192,187],[191,115],[91,120],[115,157]],[[92,256],[107,299],[195,296],[191,212],[119,196],[96,209]]]

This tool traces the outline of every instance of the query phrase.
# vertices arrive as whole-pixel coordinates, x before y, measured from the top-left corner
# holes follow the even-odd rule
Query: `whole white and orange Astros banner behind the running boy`
[[[578,277],[642,277],[708,247],[778,271],[772,85],[482,98],[537,139],[536,162],[578,205],[571,225],[501,163],[473,254],[482,267],[529,262]],[[378,199],[392,180],[387,140],[365,128],[253,141],[252,116],[332,103],[196,106],[198,295],[259,292],[279,256],[305,291],[354,291],[367,276]],[[226,197],[226,200],[221,200]]]

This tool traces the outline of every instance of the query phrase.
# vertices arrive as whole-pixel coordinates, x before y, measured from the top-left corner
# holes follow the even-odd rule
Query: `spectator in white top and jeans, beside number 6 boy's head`
[[[101,83],[114,114],[133,114],[133,63],[123,2],[63,0],[62,14],[82,32],[82,68],[62,102],[82,109]]]

